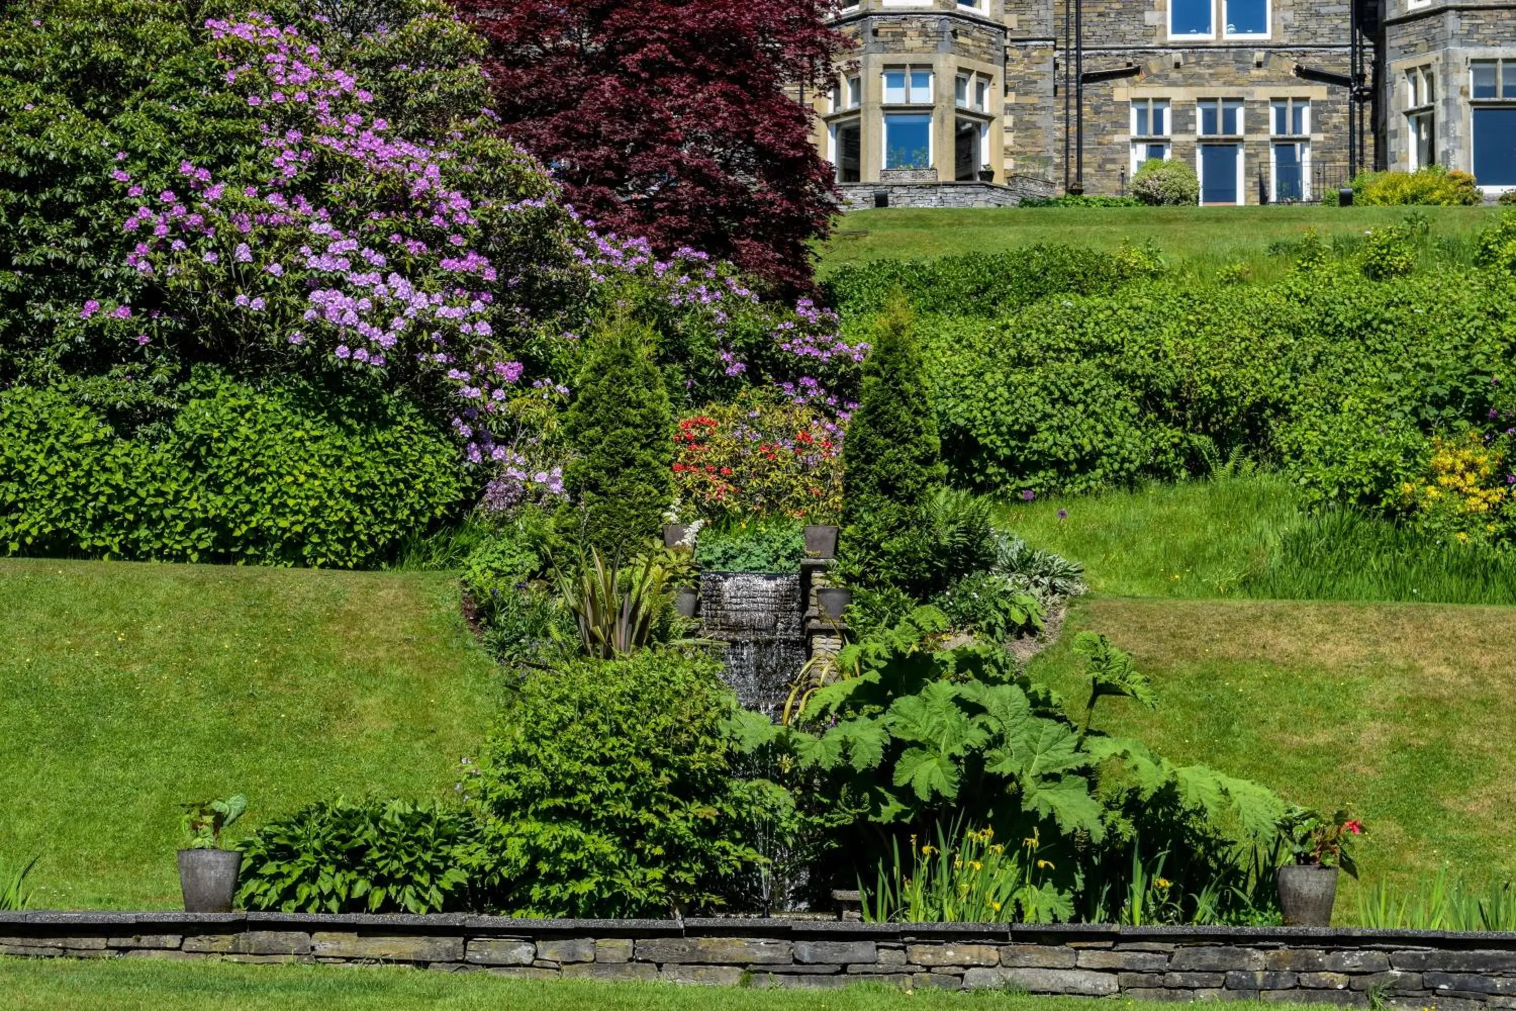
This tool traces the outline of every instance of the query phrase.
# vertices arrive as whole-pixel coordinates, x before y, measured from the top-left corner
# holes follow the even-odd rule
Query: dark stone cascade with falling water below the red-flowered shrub
[[[700,634],[726,643],[726,682],[743,706],[779,718],[805,665],[800,576],[703,573]]]

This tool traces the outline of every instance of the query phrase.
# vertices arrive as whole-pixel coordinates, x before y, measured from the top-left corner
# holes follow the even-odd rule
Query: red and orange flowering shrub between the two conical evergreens
[[[775,393],[744,390],[679,420],[673,479],[709,518],[791,517],[835,523],[841,511],[841,427]]]

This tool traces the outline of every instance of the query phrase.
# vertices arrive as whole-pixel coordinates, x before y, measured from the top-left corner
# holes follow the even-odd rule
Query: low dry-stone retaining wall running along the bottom
[[[0,912],[0,955],[405,964],[526,978],[1516,1008],[1516,935],[1283,928]]]

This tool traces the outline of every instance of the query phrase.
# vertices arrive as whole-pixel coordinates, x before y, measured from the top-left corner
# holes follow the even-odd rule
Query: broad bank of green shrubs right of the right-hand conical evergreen
[[[1161,282],[922,330],[955,479],[1001,493],[1175,479],[1240,449],[1316,499],[1383,505],[1431,432],[1504,427],[1513,406],[1516,285],[1499,271]]]

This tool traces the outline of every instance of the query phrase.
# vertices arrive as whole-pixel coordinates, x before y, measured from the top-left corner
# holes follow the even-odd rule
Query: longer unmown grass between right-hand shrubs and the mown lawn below
[[[1313,515],[1270,474],[1016,502],[1001,521],[1082,562],[1090,588],[1111,596],[1516,605],[1516,556]]]

